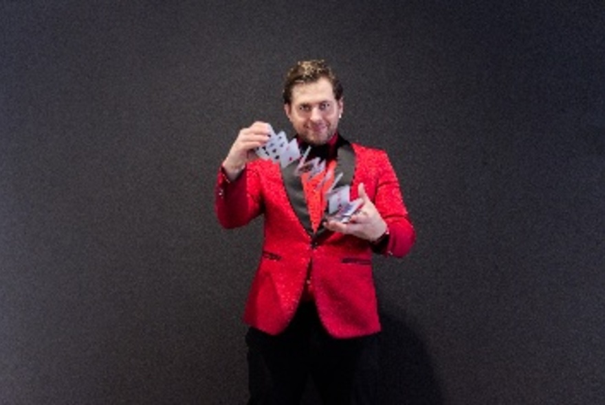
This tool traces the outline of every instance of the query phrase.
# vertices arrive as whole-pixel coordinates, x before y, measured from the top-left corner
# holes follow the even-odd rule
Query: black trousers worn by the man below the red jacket
[[[278,336],[251,327],[246,334],[248,405],[299,405],[309,377],[322,404],[375,405],[378,338],[329,336],[314,303],[302,303]]]

